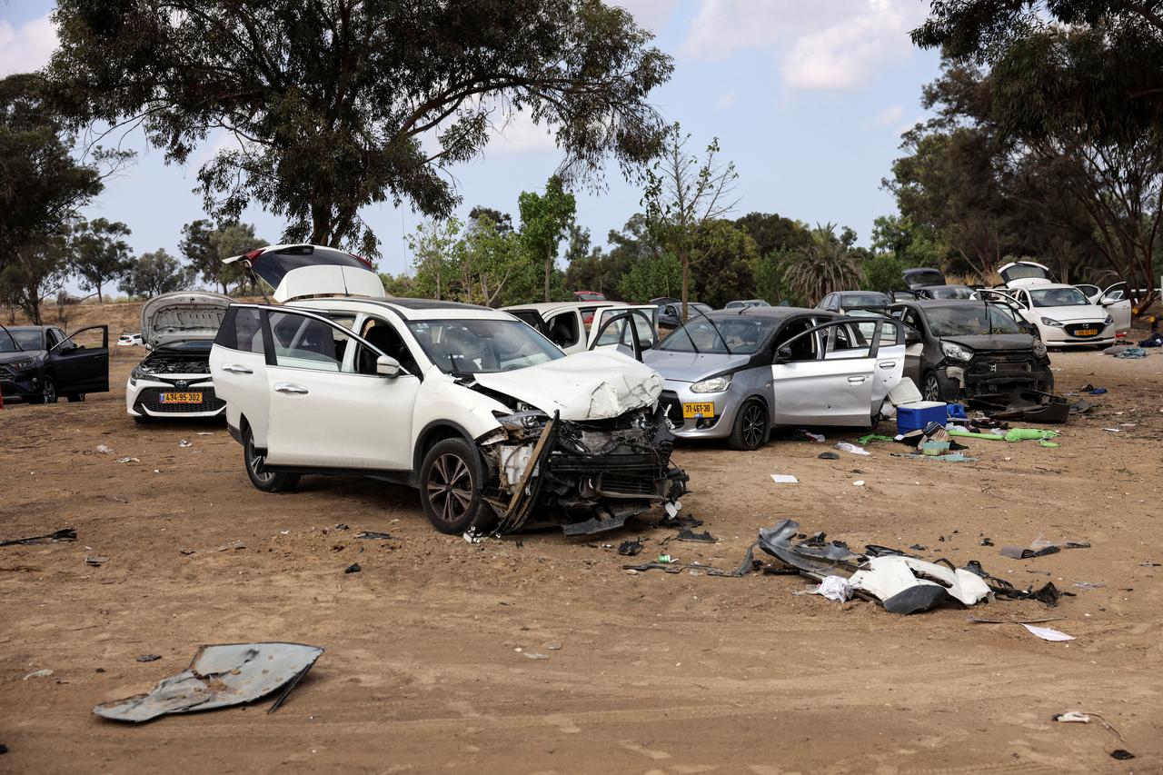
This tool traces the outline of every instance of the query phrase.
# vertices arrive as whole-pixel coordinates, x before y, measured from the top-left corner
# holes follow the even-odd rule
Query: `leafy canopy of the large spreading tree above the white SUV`
[[[361,208],[448,216],[447,169],[477,158],[498,106],[555,131],[568,179],[651,158],[648,97],[671,58],[599,0],[59,0],[48,72],[77,126],[140,118],[167,161],[238,141],[198,173],[206,212],[258,202],[284,237],[377,255]]]

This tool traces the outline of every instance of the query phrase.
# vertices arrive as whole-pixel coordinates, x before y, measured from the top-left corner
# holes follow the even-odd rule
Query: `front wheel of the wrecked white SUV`
[[[480,455],[466,441],[433,445],[420,464],[420,503],[433,527],[450,535],[483,527],[488,510],[480,497],[483,479]]]

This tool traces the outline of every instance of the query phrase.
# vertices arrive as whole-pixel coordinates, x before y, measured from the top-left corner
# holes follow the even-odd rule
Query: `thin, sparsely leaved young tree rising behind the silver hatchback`
[[[719,159],[719,138],[707,145],[702,162],[687,154],[691,135],[676,121],[666,130],[662,156],[647,170],[642,204],[658,241],[683,265],[683,320],[691,284],[691,258],[695,236],[705,223],[735,209],[739,173],[735,163]]]

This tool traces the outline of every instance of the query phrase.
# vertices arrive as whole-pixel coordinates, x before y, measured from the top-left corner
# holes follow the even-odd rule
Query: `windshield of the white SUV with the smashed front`
[[[413,320],[408,330],[444,374],[513,371],[565,357],[520,320]]]

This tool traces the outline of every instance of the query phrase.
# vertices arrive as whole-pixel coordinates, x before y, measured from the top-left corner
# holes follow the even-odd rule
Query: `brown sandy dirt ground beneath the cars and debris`
[[[434,532],[408,489],[314,477],[266,495],[223,425],[136,426],[121,356],[108,394],[0,411],[0,539],[78,534],[0,547],[0,772],[1163,772],[1163,568],[1146,564],[1163,562],[1163,356],[1054,362],[1059,392],[1110,389],[1057,449],[970,442],[979,462],[957,464],[887,443],[816,457],[855,432],[750,454],[683,446],[684,511],[716,545],[649,526],[469,545]],[[784,518],[1077,596],[899,617],[797,596],[808,584],[795,576],[632,575],[604,546],[642,535],[640,559],[734,568]],[[998,553],[1039,535],[1093,546]],[[235,541],[245,548],[219,548]],[[363,570],[344,574],[354,562]],[[970,614],[1061,617],[1046,626],[1077,640]],[[180,671],[200,644],[250,640],[327,649],[277,713],[141,726],[92,713]],[[52,675],[26,678],[41,669]],[[1069,710],[1122,739],[1050,719]]]

